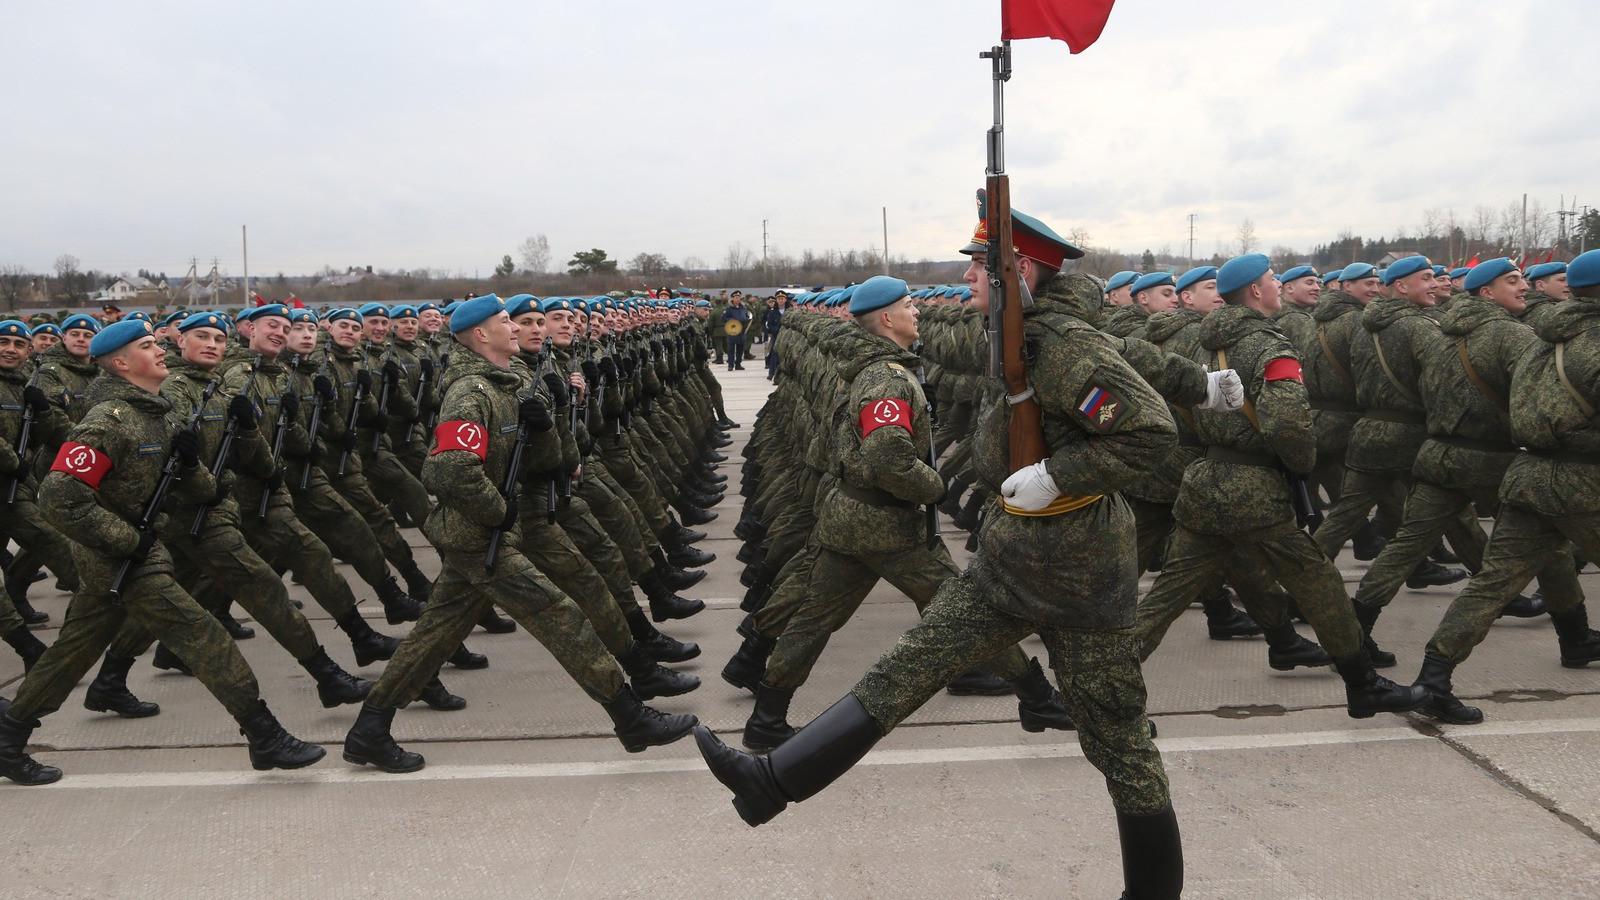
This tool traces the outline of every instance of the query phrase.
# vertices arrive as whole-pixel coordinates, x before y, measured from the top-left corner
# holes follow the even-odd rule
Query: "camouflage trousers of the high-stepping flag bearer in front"
[[[867,669],[851,693],[888,733],[952,677],[1037,633],[1077,724],[1083,756],[1126,814],[1171,807],[1162,754],[1144,716],[1139,642],[1131,631],[1038,628],[989,605],[971,570],[944,581],[922,621]]]

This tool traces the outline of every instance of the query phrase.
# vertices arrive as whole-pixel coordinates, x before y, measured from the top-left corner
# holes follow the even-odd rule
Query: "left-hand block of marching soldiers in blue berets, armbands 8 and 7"
[[[0,703],[0,775],[61,777],[26,743],[101,657],[85,705],[158,714],[126,687],[157,641],[152,661],[205,684],[253,765],[320,759],[261,701],[235,645],[253,633],[226,612],[235,601],[325,706],[362,705],[352,762],[422,765],[389,724],[413,700],[466,706],[438,671],[488,665],[462,642],[477,626],[539,637],[630,751],[682,738],[693,716],[643,701],[699,685],[662,665],[699,647],[654,623],[704,609],[677,591],[715,559],[691,525],[715,516],[717,448],[736,423],[707,370],[707,314],[678,299],[490,295],[323,315],[267,304],[160,327],[85,315],[61,322],[61,343],[37,359],[27,325],[0,322],[0,538],[21,548],[0,629],[27,669]],[[438,551],[437,580],[397,519]],[[416,621],[403,641],[362,618],[334,557],[390,625]],[[43,620],[26,601],[42,565],[74,593],[48,649],[27,628]],[[333,617],[357,666],[387,660],[376,682],[333,661],[285,573]]]

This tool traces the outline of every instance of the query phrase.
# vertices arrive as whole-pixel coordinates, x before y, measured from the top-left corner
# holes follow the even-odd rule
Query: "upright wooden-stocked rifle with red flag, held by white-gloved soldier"
[[[1011,239],[1011,178],[1005,173],[1005,83],[1011,80],[1011,42],[979,54],[994,69],[995,123],[989,128],[987,191],[978,194],[979,216],[989,223],[989,375],[1005,381],[1011,420],[1006,440],[1011,471],[1050,456],[1034,388],[1022,360],[1022,311],[1032,303],[1018,279]]]

